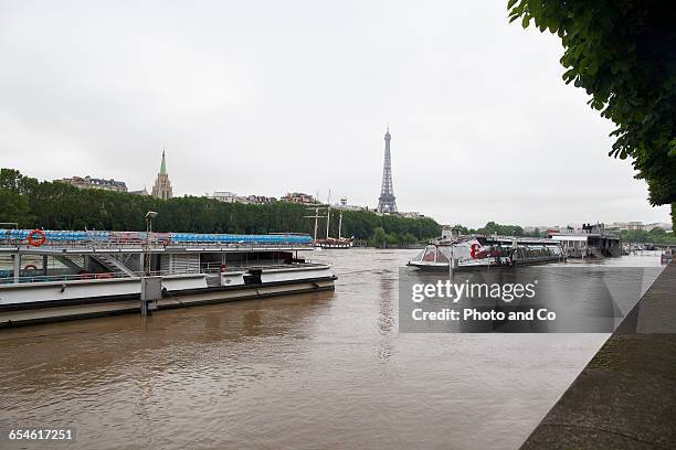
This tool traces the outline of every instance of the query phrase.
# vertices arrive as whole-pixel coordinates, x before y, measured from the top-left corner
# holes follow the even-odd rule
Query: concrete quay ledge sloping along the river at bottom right
[[[521,446],[531,449],[676,449],[676,264]]]

